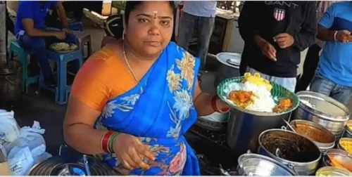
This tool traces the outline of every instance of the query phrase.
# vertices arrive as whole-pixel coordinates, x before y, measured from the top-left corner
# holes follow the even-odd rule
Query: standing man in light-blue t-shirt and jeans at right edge
[[[318,39],[326,41],[310,91],[348,104],[352,95],[352,2],[332,4],[318,25]]]

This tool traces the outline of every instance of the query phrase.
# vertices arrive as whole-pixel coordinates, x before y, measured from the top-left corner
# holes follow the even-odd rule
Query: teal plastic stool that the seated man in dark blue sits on
[[[27,61],[28,55],[34,54],[33,51],[28,51],[22,48],[17,41],[11,41],[10,46],[10,58],[13,60],[15,55],[18,56],[18,60],[22,64],[22,77],[21,77],[21,88],[22,91],[28,93],[28,86],[39,81],[39,75],[28,77],[27,67],[30,63]]]

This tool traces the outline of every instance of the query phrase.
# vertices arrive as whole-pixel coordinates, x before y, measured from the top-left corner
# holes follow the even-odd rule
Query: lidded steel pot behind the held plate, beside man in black
[[[225,79],[239,77],[239,63],[241,63],[241,53],[223,52],[216,55],[218,69],[215,75],[215,88]]]

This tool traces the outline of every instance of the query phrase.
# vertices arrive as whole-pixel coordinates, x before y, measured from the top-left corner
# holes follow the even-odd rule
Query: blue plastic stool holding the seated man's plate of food
[[[49,60],[54,60],[57,63],[57,86],[49,87],[44,84],[44,77],[42,72],[39,77],[39,88],[44,88],[55,93],[55,102],[64,105],[68,102],[68,93],[71,91],[71,85],[67,85],[67,64],[73,60],[80,61],[80,67],[82,67],[83,59],[80,50],[69,52],[69,53],[57,53],[54,51],[48,51]]]

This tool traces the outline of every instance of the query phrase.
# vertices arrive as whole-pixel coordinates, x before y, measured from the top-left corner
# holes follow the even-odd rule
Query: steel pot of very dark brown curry
[[[292,131],[270,129],[259,136],[258,154],[276,159],[294,169],[299,176],[313,174],[321,154],[315,143]]]

